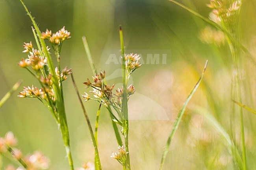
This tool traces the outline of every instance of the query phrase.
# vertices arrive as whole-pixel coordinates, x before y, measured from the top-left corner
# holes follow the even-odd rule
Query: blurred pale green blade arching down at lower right
[[[206,121],[211,124],[211,126],[219,133],[219,136],[223,140],[224,145],[232,155],[233,159],[236,162],[236,165],[238,166],[239,170],[243,170],[243,160],[239,154],[239,151],[237,150],[234,142],[226,132],[226,130],[219,124],[219,122],[211,115],[206,109],[202,107],[195,107],[194,110],[198,112],[200,115],[202,115]]]

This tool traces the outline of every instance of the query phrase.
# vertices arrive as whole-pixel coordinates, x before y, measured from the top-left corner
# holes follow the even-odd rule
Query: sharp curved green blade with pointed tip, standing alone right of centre
[[[186,107],[187,107],[187,104],[189,103],[190,99],[192,98],[192,96],[194,95],[195,91],[197,90],[198,86],[200,85],[201,81],[202,81],[202,78],[204,77],[204,72],[206,70],[206,67],[207,67],[207,64],[208,64],[208,60],[206,60],[206,63],[205,63],[205,66],[204,66],[204,70],[202,71],[202,75],[200,77],[200,79],[198,80],[197,84],[195,85],[195,87],[193,88],[193,90],[189,93],[189,95],[187,96],[187,99],[186,101],[184,102],[182,108],[180,109],[180,112],[178,113],[175,121],[174,121],[174,124],[173,124],[173,128],[169,134],[169,137],[167,139],[167,143],[165,145],[165,148],[163,150],[163,155],[162,155],[162,158],[161,158],[161,163],[160,163],[160,168],[159,170],[162,169],[163,167],[163,163],[165,161],[165,158],[167,156],[167,153],[169,151],[169,148],[170,148],[170,144],[171,144],[171,141],[173,140],[173,136],[180,124],[180,120],[182,118],[182,115],[184,114],[185,110],[186,110]]]

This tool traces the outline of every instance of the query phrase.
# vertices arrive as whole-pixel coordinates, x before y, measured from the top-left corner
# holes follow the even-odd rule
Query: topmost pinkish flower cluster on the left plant
[[[52,44],[60,44],[64,40],[67,40],[70,37],[70,32],[65,30],[65,26],[57,31],[56,33],[52,34],[52,30],[46,29],[45,32],[42,33],[41,38],[48,39]]]

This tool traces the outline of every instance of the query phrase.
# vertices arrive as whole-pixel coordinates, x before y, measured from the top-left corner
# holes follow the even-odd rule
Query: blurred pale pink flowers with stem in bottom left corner
[[[17,170],[45,170],[49,167],[48,158],[39,151],[35,151],[32,155],[23,156],[21,150],[13,148],[17,145],[17,139],[12,132],[7,132],[4,138],[0,138],[0,154],[9,152],[14,159],[17,159],[23,167]],[[16,170],[12,165],[6,167],[6,170]]]

